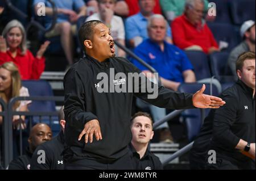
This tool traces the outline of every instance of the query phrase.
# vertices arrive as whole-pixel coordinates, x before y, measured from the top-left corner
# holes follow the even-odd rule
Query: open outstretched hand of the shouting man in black
[[[221,98],[216,96],[203,94],[204,90],[205,85],[203,85],[202,88],[195,94],[193,94],[193,106],[197,108],[219,108],[226,103]]]

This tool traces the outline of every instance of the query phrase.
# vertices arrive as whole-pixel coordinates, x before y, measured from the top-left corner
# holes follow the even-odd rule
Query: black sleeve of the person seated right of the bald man
[[[44,151],[44,158],[42,157],[42,154],[38,152],[39,150]],[[40,159],[40,161],[43,161],[44,159],[44,163],[39,163],[38,159]],[[51,149],[47,149],[45,146],[39,145],[32,155],[30,170],[51,170],[52,159],[53,153]]]

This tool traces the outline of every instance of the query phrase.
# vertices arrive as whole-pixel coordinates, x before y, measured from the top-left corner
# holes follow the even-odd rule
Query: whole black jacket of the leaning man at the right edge
[[[248,161],[250,158],[236,149],[240,138],[255,142],[255,95],[253,89],[238,80],[220,95],[226,104],[211,110],[196,138],[191,156],[205,163],[208,150],[226,159]],[[208,155],[209,156],[209,155]],[[199,158],[198,158],[199,159]]]

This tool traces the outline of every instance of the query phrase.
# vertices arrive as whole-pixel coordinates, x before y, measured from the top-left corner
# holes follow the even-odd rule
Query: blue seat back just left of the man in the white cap
[[[209,55],[212,74],[221,83],[234,82],[232,72],[228,66],[228,57],[229,53],[227,52],[216,52]]]

